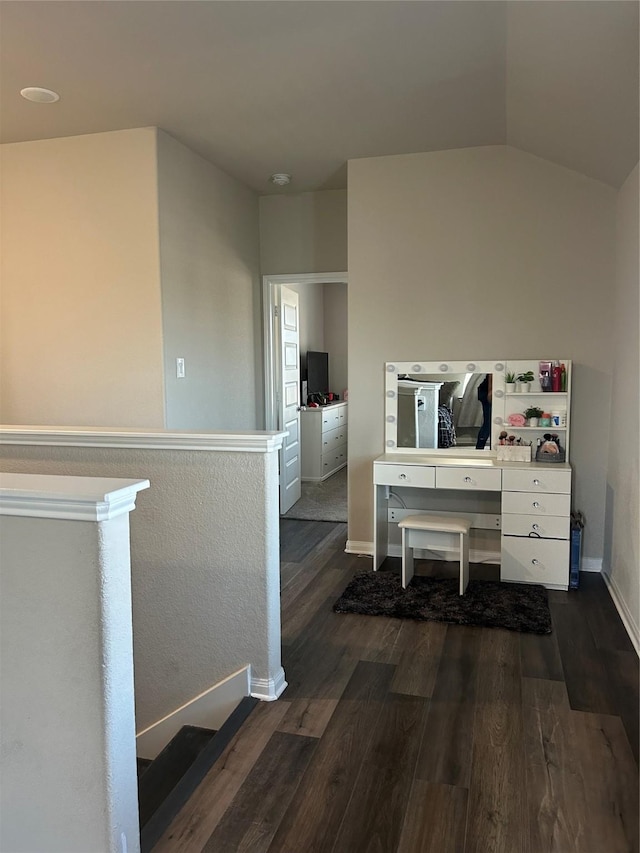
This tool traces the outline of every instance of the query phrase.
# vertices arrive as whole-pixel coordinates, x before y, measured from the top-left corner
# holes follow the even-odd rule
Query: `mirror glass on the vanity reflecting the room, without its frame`
[[[398,376],[398,447],[491,447],[490,373]]]

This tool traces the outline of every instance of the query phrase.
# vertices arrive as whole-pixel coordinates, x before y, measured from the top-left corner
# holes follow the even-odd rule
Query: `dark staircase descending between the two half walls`
[[[219,731],[183,726],[153,761],[138,759],[141,853],[150,853],[257,704],[245,697]]]

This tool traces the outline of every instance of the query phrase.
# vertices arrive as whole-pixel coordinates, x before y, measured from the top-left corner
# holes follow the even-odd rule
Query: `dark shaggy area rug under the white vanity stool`
[[[407,589],[402,589],[400,576],[392,572],[359,572],[333,609],[336,613],[551,633],[547,591],[537,584],[471,580],[466,593],[459,595],[457,578],[414,576]]]

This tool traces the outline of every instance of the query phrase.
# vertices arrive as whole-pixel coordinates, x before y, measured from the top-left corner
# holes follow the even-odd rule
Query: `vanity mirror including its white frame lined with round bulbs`
[[[495,455],[505,412],[504,372],[500,361],[385,364],[385,452]],[[479,391],[482,397],[487,376],[490,439],[476,451],[484,418]]]

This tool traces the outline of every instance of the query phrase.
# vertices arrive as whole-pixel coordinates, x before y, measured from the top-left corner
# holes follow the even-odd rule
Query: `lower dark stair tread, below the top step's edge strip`
[[[139,777],[138,804],[143,827],[178,784],[215,731],[183,726]]]

